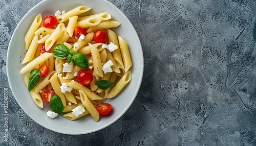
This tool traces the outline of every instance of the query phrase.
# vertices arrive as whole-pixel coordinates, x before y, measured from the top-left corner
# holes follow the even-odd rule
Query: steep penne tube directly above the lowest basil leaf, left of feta
[[[66,98],[65,98],[65,95],[60,90],[60,84],[59,84],[59,81],[58,81],[57,73],[55,73],[50,78],[50,83],[52,85],[52,88],[53,88],[55,94],[57,94],[60,97],[63,106],[66,106]]]

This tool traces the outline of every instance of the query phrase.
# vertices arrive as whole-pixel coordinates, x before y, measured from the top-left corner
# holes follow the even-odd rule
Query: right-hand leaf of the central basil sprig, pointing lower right
[[[73,55],[73,62],[81,67],[81,68],[86,68],[88,69],[89,68],[89,62],[88,62],[88,59],[86,57],[86,55],[84,55],[83,53],[81,52],[77,52]]]

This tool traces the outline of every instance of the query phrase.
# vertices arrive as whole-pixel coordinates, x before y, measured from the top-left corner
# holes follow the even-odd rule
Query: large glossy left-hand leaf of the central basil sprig
[[[52,54],[58,59],[66,59],[70,54],[70,50],[66,45],[56,44],[53,46]]]

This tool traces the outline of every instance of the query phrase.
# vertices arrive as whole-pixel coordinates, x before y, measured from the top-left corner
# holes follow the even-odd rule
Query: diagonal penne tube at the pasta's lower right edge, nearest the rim
[[[127,71],[123,77],[117,82],[117,84],[112,88],[106,98],[111,99],[114,98],[123,88],[129,83],[132,79],[132,72]]]

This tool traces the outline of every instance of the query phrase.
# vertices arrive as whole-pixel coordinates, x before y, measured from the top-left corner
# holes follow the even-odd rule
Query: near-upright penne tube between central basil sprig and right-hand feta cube
[[[91,43],[89,43],[89,45],[91,47],[91,53],[92,53],[92,57],[93,57],[94,72],[98,76],[103,77],[103,71],[102,71],[102,67],[101,67],[99,50],[95,46],[93,46]]]

